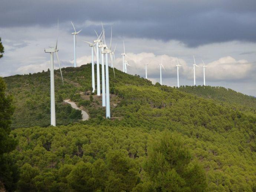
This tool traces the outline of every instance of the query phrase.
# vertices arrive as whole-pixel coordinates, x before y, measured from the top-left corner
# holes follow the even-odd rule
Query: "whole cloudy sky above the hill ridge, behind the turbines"
[[[59,19],[59,30],[57,20]],[[122,69],[123,41],[129,74],[177,86],[223,86],[256,96],[256,1],[255,0],[1,0],[0,37],[5,48],[0,76],[41,72],[49,68],[58,36],[62,67],[73,66],[73,21],[77,35],[77,65],[91,62],[91,47],[82,42],[96,39],[94,30],[104,25],[106,44],[116,45],[114,67]],[[96,59],[95,59],[96,61]],[[55,61],[55,68],[58,63]],[[64,77],[65,78],[65,77]]]

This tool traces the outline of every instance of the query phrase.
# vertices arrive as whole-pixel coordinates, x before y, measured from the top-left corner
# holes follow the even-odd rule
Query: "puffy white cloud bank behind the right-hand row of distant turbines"
[[[148,77],[158,78],[160,76],[159,63],[161,63],[161,55],[154,53],[127,53],[127,59],[131,67],[128,66],[128,72],[144,76],[145,66],[148,63]],[[180,77],[187,80],[193,79],[193,63],[187,64],[182,58],[178,58],[181,67],[179,68]],[[202,62],[197,63],[200,67],[196,67],[196,78],[203,78]],[[122,70],[122,58],[116,60],[116,65],[119,70]],[[163,55],[163,65],[166,71],[162,70],[163,78],[170,78],[177,76],[177,59],[166,54]],[[236,60],[231,56],[221,57],[220,59],[206,63],[206,78],[207,80],[220,82],[223,80],[233,81],[246,79],[256,66],[249,63],[247,60]]]

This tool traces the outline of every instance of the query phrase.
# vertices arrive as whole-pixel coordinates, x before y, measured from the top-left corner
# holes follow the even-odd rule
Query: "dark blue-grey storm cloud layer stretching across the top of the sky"
[[[58,17],[63,23],[111,22],[119,36],[179,40],[188,46],[256,42],[255,0],[1,1],[0,27],[50,26]],[[83,33],[93,33],[91,28],[83,29]]]

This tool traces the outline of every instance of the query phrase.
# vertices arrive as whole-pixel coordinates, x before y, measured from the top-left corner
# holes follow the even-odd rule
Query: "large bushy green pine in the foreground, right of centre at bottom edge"
[[[177,133],[165,130],[149,150],[145,171],[157,191],[205,191],[206,175]]]

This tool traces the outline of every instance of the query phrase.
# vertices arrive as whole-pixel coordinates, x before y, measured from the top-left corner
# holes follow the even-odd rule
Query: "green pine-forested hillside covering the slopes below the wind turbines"
[[[110,68],[105,119],[100,97],[88,95],[91,65],[62,72],[64,86],[55,71],[56,127],[49,72],[4,78],[16,106],[9,137],[17,145],[1,178],[9,191],[256,191],[255,98],[153,85]],[[64,99],[90,119],[79,121]]]

